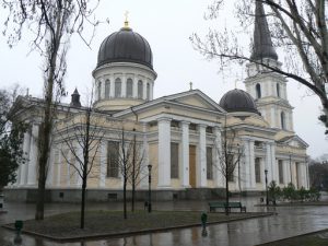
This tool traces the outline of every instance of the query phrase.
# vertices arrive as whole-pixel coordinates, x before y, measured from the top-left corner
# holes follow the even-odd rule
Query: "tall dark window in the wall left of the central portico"
[[[119,143],[109,141],[107,149],[107,177],[118,177]]]

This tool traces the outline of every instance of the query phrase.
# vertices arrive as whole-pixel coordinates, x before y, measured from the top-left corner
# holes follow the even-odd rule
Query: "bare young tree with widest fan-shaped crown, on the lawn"
[[[84,229],[87,179],[101,172],[99,166],[96,166],[101,162],[96,157],[105,136],[105,125],[108,121],[106,117],[93,110],[92,101],[87,107],[81,108],[81,112],[72,116],[66,124],[67,126],[57,126],[57,130],[60,140],[66,145],[61,150],[61,154],[66,162],[75,171],[77,176],[81,178],[80,227]],[[68,153],[65,152],[66,149],[68,149]],[[70,156],[73,157],[71,159]]]

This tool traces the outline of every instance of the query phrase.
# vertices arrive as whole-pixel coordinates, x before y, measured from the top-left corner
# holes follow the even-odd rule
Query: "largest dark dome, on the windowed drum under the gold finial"
[[[144,37],[129,27],[122,27],[101,45],[97,68],[110,62],[134,62],[153,70],[153,54]]]

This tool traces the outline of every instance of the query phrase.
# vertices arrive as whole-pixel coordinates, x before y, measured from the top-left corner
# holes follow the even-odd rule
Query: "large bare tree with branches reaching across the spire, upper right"
[[[227,2],[213,0],[206,19],[219,20]],[[218,60],[221,70],[232,65],[243,66],[245,62],[253,62],[258,66],[259,73],[279,73],[305,85],[319,97],[324,112],[319,119],[325,122],[327,129],[328,99],[325,91],[325,84],[328,82],[327,7],[327,1],[324,0],[236,1],[235,16],[239,20],[241,30],[236,26],[222,30],[218,27],[210,30],[204,38],[192,34],[190,40],[196,50],[206,58]],[[254,25],[250,25],[253,23],[255,32],[249,50],[245,47],[245,34],[249,35],[250,32],[247,31],[249,26],[253,28]],[[285,66],[281,67],[268,59],[277,60],[278,57],[257,54],[263,45],[267,50],[273,47],[283,50]]]

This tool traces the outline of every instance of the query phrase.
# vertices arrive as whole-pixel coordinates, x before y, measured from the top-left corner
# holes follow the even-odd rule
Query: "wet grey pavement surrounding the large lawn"
[[[328,200],[328,197],[324,197]],[[236,198],[236,200],[238,200]],[[259,198],[243,198],[247,211],[266,211],[265,207],[254,207]],[[143,209],[138,203],[139,209]],[[120,202],[87,204],[87,209],[121,210]],[[207,210],[206,201],[176,201],[157,202],[153,204],[157,210]],[[65,211],[79,210],[79,204],[51,203],[46,204],[46,215]],[[22,235],[23,246],[250,246],[266,242],[277,241],[304,233],[328,229],[328,209],[326,206],[278,207],[269,208],[278,215],[259,218],[230,223],[210,225],[208,235],[202,236],[201,227],[173,230],[169,232],[152,233],[147,235],[129,236],[125,238],[108,238],[79,243],[56,243],[43,238]],[[15,220],[34,218],[35,206],[26,203],[5,203],[8,213],[0,214],[0,224],[11,223]],[[0,245],[14,245],[14,233],[0,229]]]

